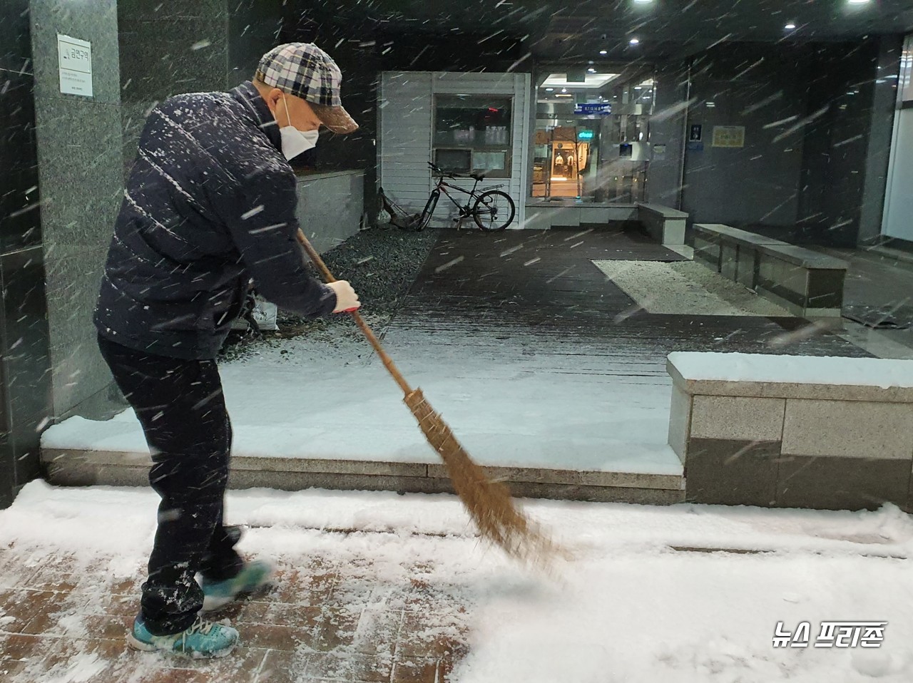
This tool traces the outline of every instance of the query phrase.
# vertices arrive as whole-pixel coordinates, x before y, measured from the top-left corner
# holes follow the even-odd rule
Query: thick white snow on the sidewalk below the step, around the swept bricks
[[[899,682],[913,678],[913,521],[877,512],[528,501],[574,559],[553,577],[479,544],[456,499],[310,490],[231,492],[247,552],[295,562],[371,561],[376,585],[416,564],[457,586],[470,651],[459,683]],[[0,511],[0,547],[28,562],[73,552],[129,575],[152,541],[156,497],[142,489],[32,482]],[[348,530],[345,533],[333,530]],[[393,531],[376,533],[374,531]],[[441,534],[441,535],[435,535]],[[759,552],[678,552],[673,547]],[[15,577],[0,576],[9,583]],[[465,598],[465,599],[462,599]],[[774,648],[778,621],[887,621],[884,644]]]

